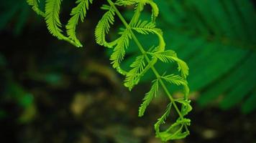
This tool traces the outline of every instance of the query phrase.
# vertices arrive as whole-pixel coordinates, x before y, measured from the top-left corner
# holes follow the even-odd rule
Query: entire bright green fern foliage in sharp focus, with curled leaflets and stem
[[[150,69],[155,74],[155,80],[152,81],[152,87],[150,92],[145,94],[142,104],[139,108],[139,117],[142,117],[145,113],[147,106],[154,97],[159,93],[159,88],[162,87],[165,94],[167,94],[170,99],[170,104],[168,104],[167,109],[162,117],[157,119],[155,123],[156,137],[159,137],[163,142],[167,142],[172,139],[182,139],[189,134],[188,126],[191,124],[191,120],[187,119],[185,116],[188,112],[191,112],[190,100],[188,99],[188,82],[186,77],[188,76],[188,66],[186,62],[178,59],[175,51],[165,50],[165,39],[163,38],[163,31],[156,27],[156,18],[159,14],[159,9],[157,4],[152,0],[117,0],[115,2],[111,0],[106,0],[109,5],[103,5],[101,9],[106,10],[106,13],[102,16],[99,24],[96,26],[95,35],[96,42],[101,46],[106,46],[109,49],[113,49],[110,60],[114,69],[120,74],[125,76],[124,86],[132,90],[133,87],[139,84],[140,79],[149,71]],[[61,0],[46,0],[45,12],[38,8],[37,0],[27,0],[28,4],[32,6],[34,11],[45,17],[47,28],[53,36],[58,37],[58,39],[63,39],[70,42],[75,46],[82,46],[80,41],[76,38],[76,26],[79,19],[83,21],[86,16],[86,11],[88,10],[88,5],[92,3],[92,0],[78,0],[76,1],[77,6],[71,11],[71,18],[68,24],[65,26],[67,29],[67,35],[62,34],[61,23],[59,19],[60,14],[60,4]],[[149,5],[152,8],[152,16],[150,21],[142,21],[140,15],[145,7]],[[132,19],[127,23],[124,16],[119,12],[117,6],[133,6],[134,15]],[[124,28],[119,31],[119,38],[114,41],[106,41],[106,35],[109,34],[109,30],[112,25],[114,25],[114,17],[118,16],[119,19],[124,24]],[[137,34],[155,34],[159,44],[157,46],[152,46],[150,49],[145,50],[140,41],[137,39]],[[122,69],[121,63],[124,60],[126,50],[129,48],[129,41],[134,40],[140,49],[140,56],[134,60],[130,65],[131,69],[126,71]],[[175,62],[178,64],[179,74],[160,74],[157,69],[155,69],[155,64],[157,62],[170,63]],[[184,97],[182,99],[174,99],[166,84],[173,84],[183,87]],[[164,131],[160,129],[162,124],[165,124],[165,120],[170,115],[171,110],[174,110],[178,114],[176,121],[170,125],[170,127],[165,128]]]

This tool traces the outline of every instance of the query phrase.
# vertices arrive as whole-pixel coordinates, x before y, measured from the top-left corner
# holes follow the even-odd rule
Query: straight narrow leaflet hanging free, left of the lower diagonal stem
[[[144,102],[142,102],[142,104],[140,105],[139,117],[142,117],[144,115],[144,112],[147,109],[147,106],[150,104],[152,99],[157,96],[158,88],[159,88],[158,79],[155,79],[155,81],[153,81],[153,85],[150,89],[150,92],[147,92],[144,99],[142,99]]]

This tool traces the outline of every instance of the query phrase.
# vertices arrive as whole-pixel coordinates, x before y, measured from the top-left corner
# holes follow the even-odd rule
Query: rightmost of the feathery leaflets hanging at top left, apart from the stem
[[[78,4],[75,8],[72,9],[70,16],[72,16],[68,24],[65,26],[67,29],[68,38],[72,39],[76,44],[82,46],[81,42],[76,37],[76,26],[78,24],[79,18],[81,21],[86,17],[86,10],[88,10],[89,3],[92,3],[93,0],[77,0]]]

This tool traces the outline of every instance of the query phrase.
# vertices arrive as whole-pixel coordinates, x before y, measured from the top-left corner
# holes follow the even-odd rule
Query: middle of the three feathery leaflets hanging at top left
[[[64,35],[61,34],[62,30],[60,23],[60,4],[62,0],[46,0],[45,4],[45,21],[47,29],[50,34],[56,36],[58,39],[64,39]]]

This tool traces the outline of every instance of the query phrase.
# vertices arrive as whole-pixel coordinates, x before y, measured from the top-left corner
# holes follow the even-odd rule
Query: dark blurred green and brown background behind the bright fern
[[[167,46],[190,67],[191,135],[176,143],[256,143],[256,13],[250,0],[155,0]],[[41,1],[43,7],[44,1]],[[158,143],[153,124],[168,104],[160,94],[137,117],[152,74],[129,92],[95,42],[104,11],[94,1],[78,26],[84,47],[52,37],[23,0],[0,2],[0,142]],[[63,1],[61,21],[74,1]],[[121,8],[127,19],[132,9]],[[150,17],[150,9],[142,15]],[[109,37],[122,24],[116,20]],[[111,39],[111,38],[110,38]],[[145,47],[154,36],[139,36]],[[150,41],[150,42],[149,42]],[[124,68],[137,54],[130,46]],[[157,64],[160,71],[175,66]],[[178,96],[172,89],[173,96]]]

